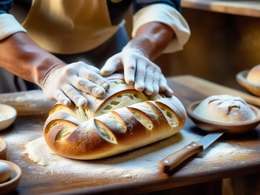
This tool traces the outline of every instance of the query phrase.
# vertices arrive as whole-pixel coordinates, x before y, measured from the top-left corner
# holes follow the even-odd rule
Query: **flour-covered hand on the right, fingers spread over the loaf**
[[[173,91],[168,87],[160,67],[149,60],[146,52],[139,47],[123,48],[122,52],[110,57],[101,69],[102,76],[109,76],[117,70],[124,70],[127,84],[134,83],[135,89],[146,95],[164,92],[171,97]]]

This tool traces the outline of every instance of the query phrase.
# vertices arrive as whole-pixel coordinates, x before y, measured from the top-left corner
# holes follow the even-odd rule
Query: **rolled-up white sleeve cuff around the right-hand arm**
[[[161,22],[171,27],[175,36],[171,43],[162,53],[173,53],[183,49],[183,46],[190,38],[190,27],[184,17],[172,6],[155,3],[148,5],[133,16],[132,37],[135,37],[138,28],[149,22]]]

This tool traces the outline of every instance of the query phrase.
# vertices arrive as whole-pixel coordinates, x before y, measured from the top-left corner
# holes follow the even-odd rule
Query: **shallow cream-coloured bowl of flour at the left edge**
[[[0,121],[0,131],[1,131],[3,129],[6,129],[10,125],[12,125],[12,123],[16,119],[17,112],[16,109],[11,106],[0,104],[0,113],[3,113],[4,115],[7,116],[5,120]]]

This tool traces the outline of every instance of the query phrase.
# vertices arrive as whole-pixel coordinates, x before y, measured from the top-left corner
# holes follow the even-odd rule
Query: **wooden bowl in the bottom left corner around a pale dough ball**
[[[19,185],[22,175],[22,169],[20,168],[20,166],[10,161],[0,160],[0,162],[5,162],[12,169],[11,179],[9,181],[6,181],[5,183],[0,184],[0,194],[7,194],[15,190]]]

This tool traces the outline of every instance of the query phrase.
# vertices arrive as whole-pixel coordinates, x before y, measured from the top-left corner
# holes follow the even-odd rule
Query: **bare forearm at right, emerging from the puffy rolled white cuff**
[[[138,28],[130,45],[142,48],[149,59],[154,60],[161,55],[173,37],[174,31],[168,25],[160,22],[149,22]]]

